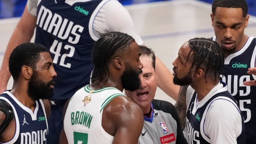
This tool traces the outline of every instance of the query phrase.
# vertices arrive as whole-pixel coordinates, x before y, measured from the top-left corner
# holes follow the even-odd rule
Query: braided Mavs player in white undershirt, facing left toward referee
[[[217,42],[194,38],[173,62],[174,84],[186,92],[188,144],[245,144],[244,119],[227,85],[219,80],[224,54]]]

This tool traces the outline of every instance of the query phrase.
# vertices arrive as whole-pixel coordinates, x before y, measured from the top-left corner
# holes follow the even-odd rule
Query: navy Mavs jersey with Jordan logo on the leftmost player
[[[34,112],[21,104],[9,91],[0,95],[14,112],[16,131],[11,141],[5,144],[46,144],[48,125],[42,100],[35,102]]]

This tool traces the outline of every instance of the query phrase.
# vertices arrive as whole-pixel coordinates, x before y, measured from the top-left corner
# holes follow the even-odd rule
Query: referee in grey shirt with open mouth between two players
[[[181,130],[179,116],[175,107],[166,101],[154,99],[157,88],[154,52],[140,46],[143,64],[140,88],[136,91],[125,90],[125,94],[138,104],[144,114],[144,125],[139,144],[187,144]]]

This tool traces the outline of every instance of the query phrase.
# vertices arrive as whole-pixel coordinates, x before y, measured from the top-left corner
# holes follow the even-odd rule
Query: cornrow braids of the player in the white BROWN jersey
[[[130,44],[134,41],[131,36],[121,32],[110,32],[97,40],[92,50],[92,62],[95,66],[91,78],[92,83],[96,80],[107,81],[109,62],[130,49]]]

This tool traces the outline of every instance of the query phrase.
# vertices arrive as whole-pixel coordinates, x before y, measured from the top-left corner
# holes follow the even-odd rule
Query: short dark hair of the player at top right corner
[[[224,8],[241,8],[243,11],[243,17],[246,17],[248,13],[248,7],[245,0],[214,0],[212,3],[212,14],[215,15],[217,7]]]

